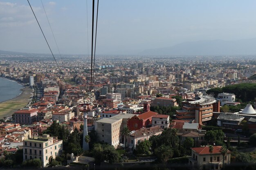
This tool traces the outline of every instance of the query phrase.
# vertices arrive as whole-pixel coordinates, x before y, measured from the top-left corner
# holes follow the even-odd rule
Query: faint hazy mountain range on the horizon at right
[[[244,40],[204,40],[144,50],[140,55],[255,55],[256,38]]]

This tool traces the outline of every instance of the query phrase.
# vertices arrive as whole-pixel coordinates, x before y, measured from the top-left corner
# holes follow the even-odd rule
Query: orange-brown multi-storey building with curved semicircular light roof
[[[200,125],[204,121],[211,120],[213,105],[216,100],[213,97],[202,96],[198,100],[183,102],[182,110],[176,110],[176,118],[179,120],[195,120]]]

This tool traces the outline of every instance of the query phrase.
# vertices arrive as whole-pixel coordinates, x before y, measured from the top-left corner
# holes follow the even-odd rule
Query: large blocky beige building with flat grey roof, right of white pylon
[[[127,119],[134,116],[130,113],[120,113],[110,118],[103,118],[95,122],[97,140],[106,142],[115,148],[121,143],[121,130],[127,127]]]

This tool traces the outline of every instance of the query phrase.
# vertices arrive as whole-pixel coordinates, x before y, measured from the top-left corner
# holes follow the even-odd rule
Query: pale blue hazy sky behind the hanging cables
[[[30,0],[58,53],[40,0]],[[87,54],[86,0],[43,0],[61,53]],[[97,54],[134,54],[186,41],[256,38],[255,0],[99,0]],[[92,0],[88,0],[91,42]],[[90,49],[90,45],[89,45]],[[27,0],[0,0],[0,50],[49,53]]]

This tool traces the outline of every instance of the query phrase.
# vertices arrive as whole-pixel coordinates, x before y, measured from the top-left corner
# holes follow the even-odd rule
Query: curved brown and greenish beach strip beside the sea
[[[21,91],[22,93],[16,98],[0,103],[0,107],[4,107],[0,108],[0,119],[3,119],[3,117],[10,117],[14,112],[16,112],[16,110],[25,107],[29,103],[29,98],[33,95],[32,89],[29,88],[29,86],[25,86]]]

